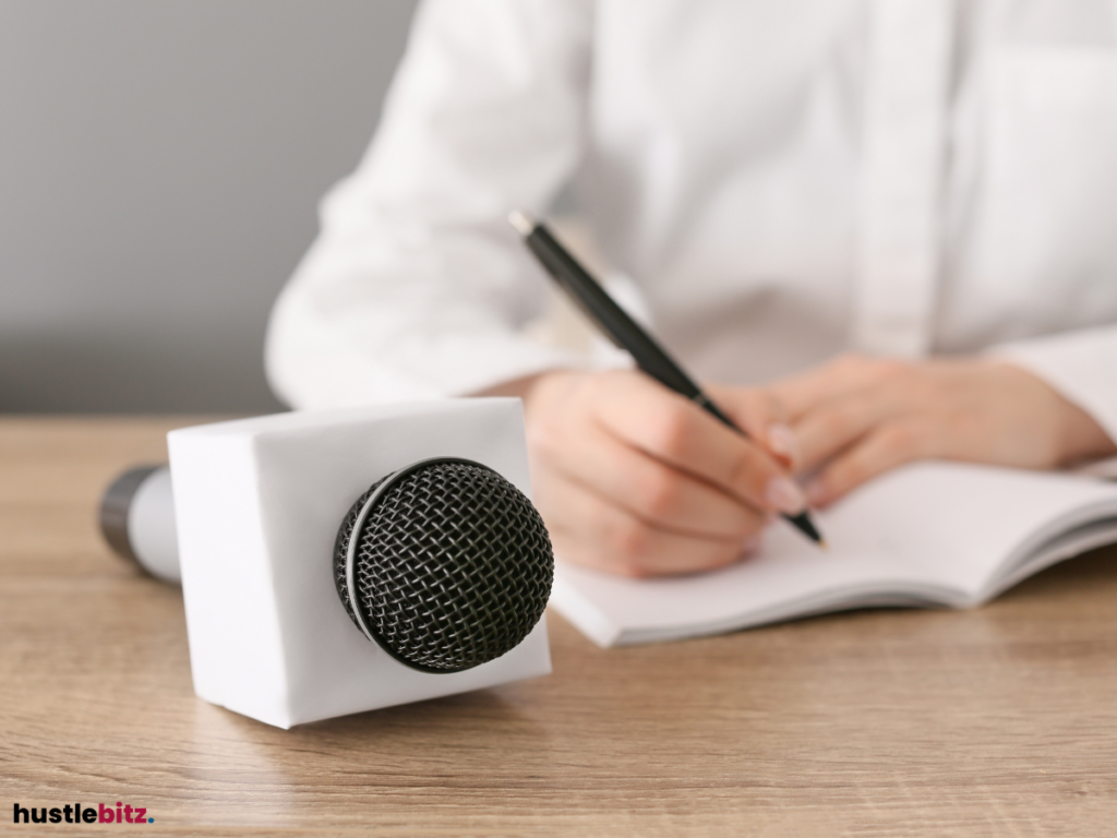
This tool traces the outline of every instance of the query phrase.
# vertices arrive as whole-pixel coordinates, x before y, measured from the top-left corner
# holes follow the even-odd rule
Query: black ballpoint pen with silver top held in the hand
[[[574,303],[622,350],[632,355],[636,365],[663,387],[690,399],[707,413],[747,437],[737,425],[723,413],[706,393],[675,363],[670,355],[633,321],[596,279],[558,244],[551,231],[523,212],[513,212],[508,221],[524,237],[527,249]],[[796,515],[784,514],[808,539],[824,546],[821,533],[804,510]]]

